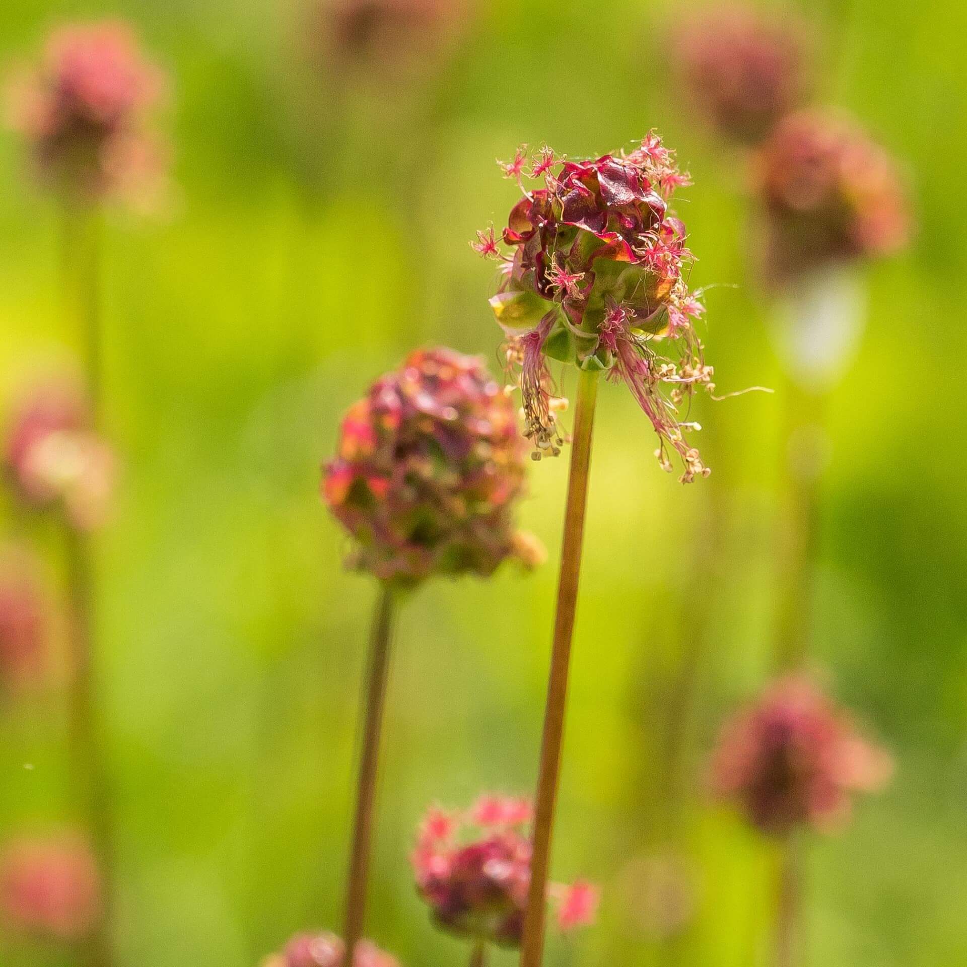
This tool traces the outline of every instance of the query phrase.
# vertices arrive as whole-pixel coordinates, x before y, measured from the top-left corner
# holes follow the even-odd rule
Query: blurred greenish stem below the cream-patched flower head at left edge
[[[97,668],[94,660],[94,568],[88,535],[65,528],[67,581],[70,597],[70,750],[73,786],[98,859],[102,884],[101,916],[86,941],[89,967],[113,963],[110,924],[113,897],[113,835],[111,790],[105,761],[103,729],[98,718]]]

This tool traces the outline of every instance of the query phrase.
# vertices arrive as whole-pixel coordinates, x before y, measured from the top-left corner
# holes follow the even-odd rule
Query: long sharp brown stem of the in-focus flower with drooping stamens
[[[541,767],[538,774],[534,811],[534,852],[527,914],[520,947],[521,967],[540,967],[543,953],[544,907],[547,875],[550,868],[554,807],[561,772],[561,747],[564,717],[568,702],[568,671],[571,663],[571,637],[577,609],[577,586],[581,571],[581,544],[584,538],[584,512],[591,470],[591,440],[594,432],[598,373],[581,371],[577,384],[574,439],[571,444],[571,472],[568,505],[564,521],[564,545],[557,590],[557,616],[551,649],[547,707],[544,712]]]

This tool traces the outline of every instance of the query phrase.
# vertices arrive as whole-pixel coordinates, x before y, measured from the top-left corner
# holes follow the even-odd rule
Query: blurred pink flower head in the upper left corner
[[[127,24],[61,27],[40,67],[15,81],[12,123],[56,188],[83,198],[136,191],[161,173],[146,124],[161,86]]]

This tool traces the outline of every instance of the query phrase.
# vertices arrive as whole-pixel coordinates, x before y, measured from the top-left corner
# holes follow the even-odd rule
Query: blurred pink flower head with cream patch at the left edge
[[[30,507],[63,510],[81,530],[103,522],[116,476],[113,452],[89,424],[73,384],[45,383],[16,403],[3,452],[17,497]]]

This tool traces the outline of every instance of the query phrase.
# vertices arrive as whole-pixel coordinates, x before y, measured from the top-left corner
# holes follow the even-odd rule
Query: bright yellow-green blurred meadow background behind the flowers
[[[413,85],[347,78],[337,110],[301,66],[294,6],[0,5],[4,63],[61,19],[124,15],[171,76],[170,209],[112,217],[104,259],[106,422],[125,462],[100,542],[124,964],[247,967],[296,929],[339,923],[375,589],[342,570],[318,467],[340,412],[408,348],[496,364],[492,267],[467,245],[513,202],[496,157],[545,140],[601,153],[658,128],[695,181],[680,206],[692,281],[725,283],[707,299],[718,386],[783,385],[747,269],[745,167],[669,79],[664,29],[687,6],[481,0],[438,69]],[[919,220],[911,251],[868,274],[868,331],[831,401],[817,665],[898,771],[811,854],[809,963],[949,967],[967,962],[967,7],[825,0],[808,16],[822,99],[904,160]],[[57,245],[56,210],[4,136],[5,396],[72,348]],[[762,954],[770,851],[705,801],[701,774],[720,719],[768,672],[781,396],[701,404],[715,477],[685,488],[660,472],[630,396],[602,394],[555,873],[596,880],[603,901],[597,928],[553,941],[553,967]],[[369,932],[411,967],[467,955],[412,887],[425,806],[532,784],[565,473],[536,464],[522,508],[550,551],[542,571],[437,582],[402,617]],[[710,504],[728,514],[717,586],[683,608]],[[670,844],[651,805],[654,737],[693,608],[712,620],[694,794]],[[65,814],[58,708],[53,695],[0,718],[4,833]],[[654,869],[671,871],[664,892]],[[683,890],[692,916],[662,941]]]

